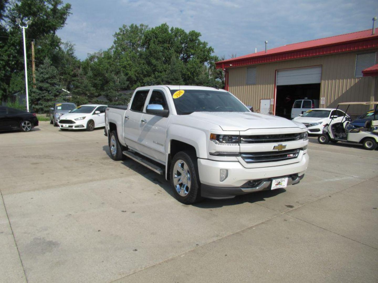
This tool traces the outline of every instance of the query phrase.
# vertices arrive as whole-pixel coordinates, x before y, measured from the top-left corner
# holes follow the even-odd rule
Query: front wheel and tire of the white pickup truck
[[[201,199],[197,158],[191,152],[180,151],[172,159],[170,183],[175,198],[186,205]]]

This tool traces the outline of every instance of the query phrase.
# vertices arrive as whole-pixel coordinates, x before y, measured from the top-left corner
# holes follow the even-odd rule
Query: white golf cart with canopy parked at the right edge
[[[347,112],[350,105],[356,104],[375,105],[375,110],[378,106],[378,102],[342,102],[338,104],[336,109],[340,105],[348,105],[345,111]],[[350,124],[350,118],[345,115],[341,122],[333,120],[336,116],[331,116],[330,118],[331,122],[324,126],[323,133],[318,137],[320,144],[326,144],[329,141],[333,143],[343,141],[362,144],[368,150],[376,149],[378,143],[378,117],[373,117],[373,120],[366,121],[365,126],[361,128]]]

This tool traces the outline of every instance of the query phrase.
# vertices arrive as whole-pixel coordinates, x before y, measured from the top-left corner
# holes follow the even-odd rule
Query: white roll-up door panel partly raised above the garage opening
[[[277,86],[320,83],[321,77],[321,66],[277,71]]]

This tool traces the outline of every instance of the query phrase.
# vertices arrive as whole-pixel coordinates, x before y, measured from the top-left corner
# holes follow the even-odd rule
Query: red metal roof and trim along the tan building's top
[[[359,50],[366,50],[378,47],[378,37],[376,35],[365,35],[367,31],[356,32],[354,34],[363,35],[356,38],[349,38],[349,40],[345,40],[343,42],[328,42],[323,46],[308,46],[307,48],[304,47],[304,43],[294,43],[292,45],[293,49],[291,50],[284,50],[281,52],[274,52],[275,50],[279,51],[282,49],[287,49],[288,46],[281,46],[278,48],[270,49],[271,53],[266,54],[265,52],[258,52],[253,53],[245,56],[240,56],[239,58],[233,58],[228,60],[223,60],[216,63],[217,69],[219,68],[234,68],[246,65],[254,65],[254,64],[262,64],[262,63],[270,63],[270,62],[277,62],[283,60],[293,60],[299,58],[307,58],[307,57],[314,57],[314,56],[321,56],[321,55],[329,55],[341,52],[350,52],[350,51],[359,51]],[[353,34],[348,34],[351,36]],[[344,37],[345,35],[340,35],[336,37]],[[367,37],[367,38],[366,38]],[[333,37],[335,38],[335,37]],[[310,41],[316,42],[317,40]],[[295,49],[295,46],[299,47],[301,45],[302,48]],[[315,45],[315,43],[314,43]],[[291,46],[290,46],[291,47]],[[230,64],[232,66],[230,66]]]

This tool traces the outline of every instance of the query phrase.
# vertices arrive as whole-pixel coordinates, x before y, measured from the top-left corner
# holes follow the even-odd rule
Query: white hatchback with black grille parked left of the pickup
[[[95,128],[104,127],[106,107],[106,105],[100,104],[78,106],[59,117],[59,128],[62,130],[87,129],[87,131],[93,131]]]

